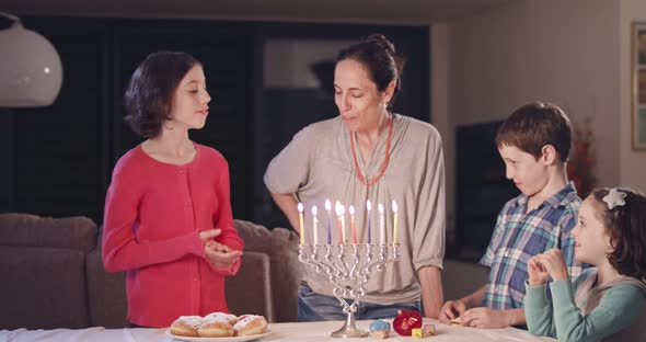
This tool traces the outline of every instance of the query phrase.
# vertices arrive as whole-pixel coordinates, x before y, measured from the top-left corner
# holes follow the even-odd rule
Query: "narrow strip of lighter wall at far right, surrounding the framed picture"
[[[622,0],[620,2],[619,58],[620,58],[620,184],[646,192],[646,151],[631,148],[631,23],[646,22],[646,1]]]

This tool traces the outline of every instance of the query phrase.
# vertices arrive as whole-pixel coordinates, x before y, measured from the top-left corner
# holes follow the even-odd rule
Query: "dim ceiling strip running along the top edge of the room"
[[[428,23],[512,0],[1,0],[16,15]]]

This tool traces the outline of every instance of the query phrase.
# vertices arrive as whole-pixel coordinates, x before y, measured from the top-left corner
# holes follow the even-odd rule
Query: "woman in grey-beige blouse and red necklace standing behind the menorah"
[[[389,111],[401,88],[394,46],[382,35],[343,49],[334,72],[339,116],[299,132],[276,156],[265,184],[293,228],[298,202],[319,213],[319,243],[327,241],[325,200],[356,208],[357,240],[378,243],[377,206],[385,210],[385,240],[393,241],[390,206],[399,206],[400,261],[374,272],[367,284],[357,319],[388,318],[397,309],[422,309],[437,318],[442,305],[440,270],[445,254],[445,168],[441,140],[428,123]],[[372,204],[368,237],[367,201]],[[334,209],[333,209],[334,210]],[[347,212],[346,212],[347,213]],[[333,213],[333,223],[336,216]],[[335,225],[333,224],[333,227]],[[298,229],[297,229],[298,231]],[[308,243],[312,220],[304,226]],[[339,241],[331,229],[332,241]],[[326,276],[307,267],[299,290],[300,321],[343,320],[345,315]]]

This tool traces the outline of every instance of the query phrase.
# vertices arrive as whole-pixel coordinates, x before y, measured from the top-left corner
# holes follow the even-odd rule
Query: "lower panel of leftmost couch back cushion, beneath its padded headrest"
[[[88,327],[85,254],[0,246],[0,329]]]

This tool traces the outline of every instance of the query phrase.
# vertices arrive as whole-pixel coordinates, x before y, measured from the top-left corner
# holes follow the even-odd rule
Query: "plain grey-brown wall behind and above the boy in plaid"
[[[449,91],[443,114],[447,124],[440,133],[449,202],[454,202],[450,193],[455,189],[454,128],[504,119],[535,100],[561,105],[575,124],[590,116],[599,184],[619,183],[618,23],[616,2],[605,0],[512,1],[447,23],[443,67],[449,69]],[[435,52],[432,56],[438,55]],[[435,81],[432,84],[431,95],[437,101],[436,94],[441,98],[443,90]],[[434,119],[437,117],[434,113]],[[449,223],[453,213],[449,208]]]

